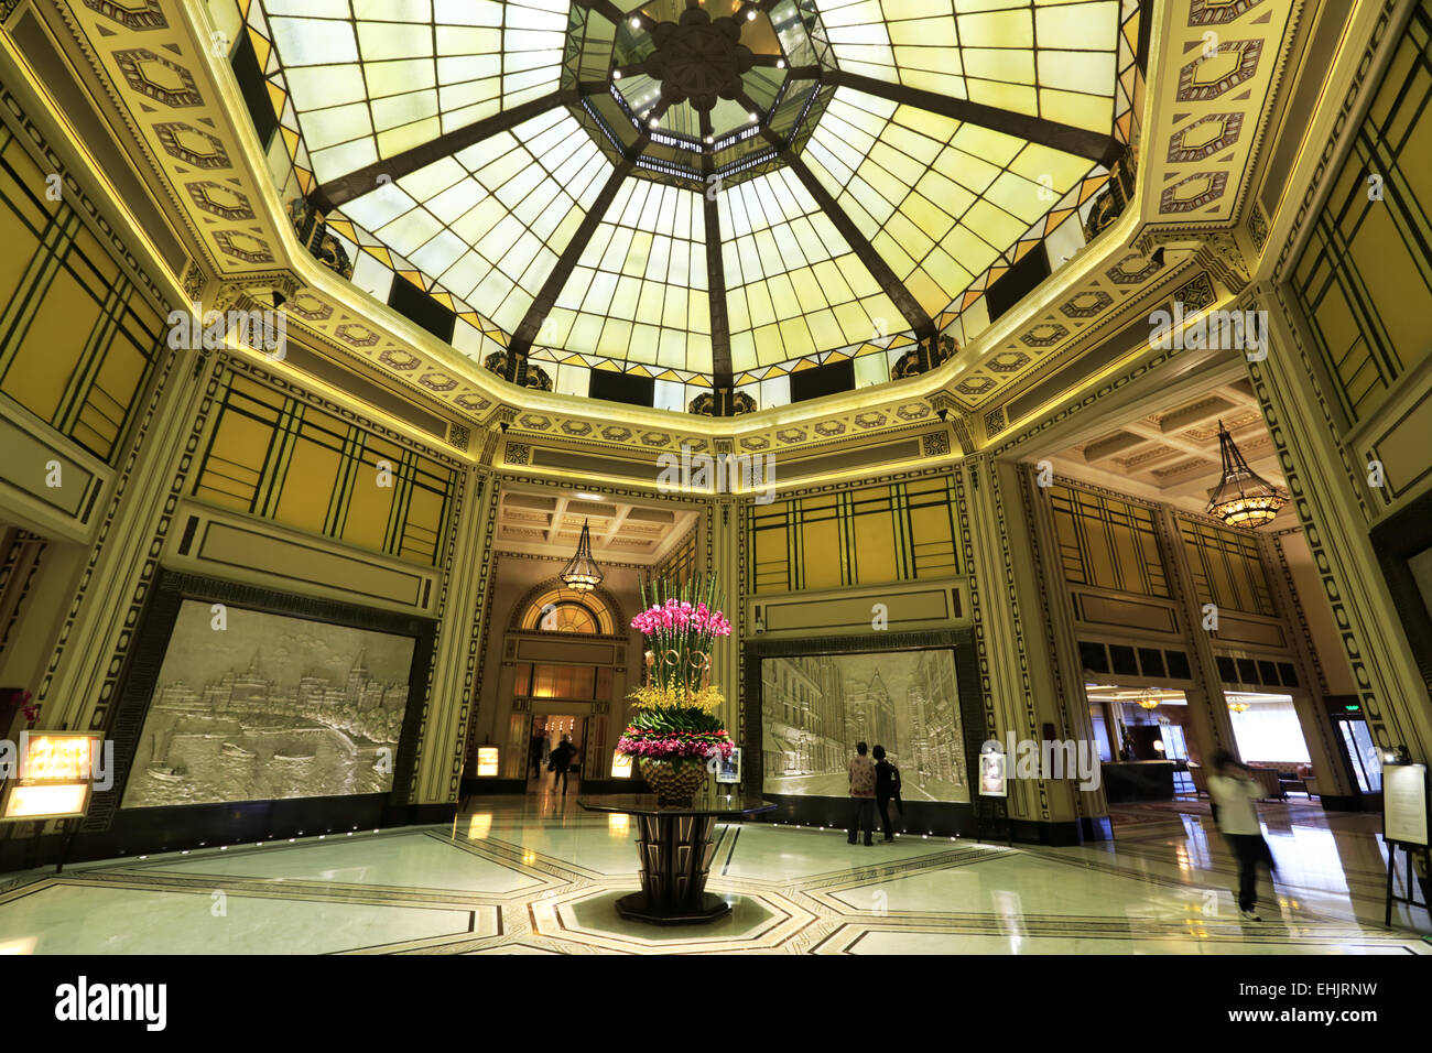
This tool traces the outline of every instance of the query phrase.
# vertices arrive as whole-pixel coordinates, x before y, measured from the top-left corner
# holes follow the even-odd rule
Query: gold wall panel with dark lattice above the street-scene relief
[[[949,476],[750,504],[750,590],[802,592],[954,577]]]

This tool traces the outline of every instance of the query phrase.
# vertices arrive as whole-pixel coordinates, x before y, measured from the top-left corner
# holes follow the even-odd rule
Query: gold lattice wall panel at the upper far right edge
[[[1413,11],[1292,275],[1352,423],[1432,354],[1432,0]],[[1369,178],[1380,178],[1380,199]]]

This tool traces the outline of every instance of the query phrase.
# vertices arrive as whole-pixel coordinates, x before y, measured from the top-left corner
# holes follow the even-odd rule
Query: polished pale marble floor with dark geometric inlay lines
[[[1382,925],[1375,815],[1266,805],[1279,864],[1240,920],[1207,804],[1120,808],[1113,842],[1008,848],[748,822],[709,888],[732,914],[621,920],[626,817],[576,794],[473,798],[448,827],[334,834],[0,875],[0,953],[34,954],[1428,954],[1426,911]]]

